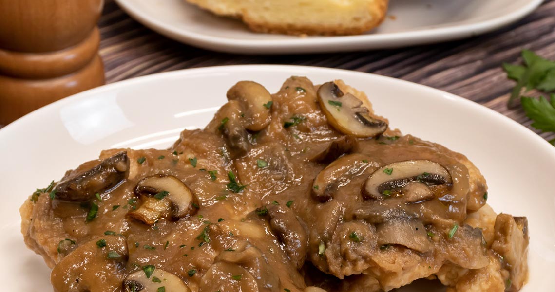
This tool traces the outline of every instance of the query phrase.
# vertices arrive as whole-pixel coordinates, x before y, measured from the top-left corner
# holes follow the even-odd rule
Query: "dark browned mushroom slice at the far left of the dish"
[[[128,172],[127,152],[120,152],[87,171],[70,173],[58,183],[54,192],[56,198],[64,201],[86,202],[96,193],[103,194],[117,187]]]

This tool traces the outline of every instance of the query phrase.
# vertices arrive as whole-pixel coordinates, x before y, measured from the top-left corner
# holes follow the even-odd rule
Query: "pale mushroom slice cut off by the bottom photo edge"
[[[159,268],[155,268],[148,277],[145,271],[138,270],[123,280],[124,292],[157,292],[162,286],[165,291],[191,292],[178,276]]]

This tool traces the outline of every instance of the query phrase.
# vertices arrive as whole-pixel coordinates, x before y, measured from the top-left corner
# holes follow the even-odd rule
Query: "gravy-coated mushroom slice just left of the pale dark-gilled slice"
[[[352,177],[360,175],[367,168],[377,168],[367,155],[354,153],[337,158],[324,170],[320,171],[312,183],[312,196],[320,202],[329,201],[342,186],[347,185]]]

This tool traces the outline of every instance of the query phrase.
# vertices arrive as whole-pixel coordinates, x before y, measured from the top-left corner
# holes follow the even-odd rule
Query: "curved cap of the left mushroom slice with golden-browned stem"
[[[145,177],[135,187],[135,193],[167,199],[171,202],[173,218],[191,216],[199,207],[195,194],[179,178],[172,175]]]

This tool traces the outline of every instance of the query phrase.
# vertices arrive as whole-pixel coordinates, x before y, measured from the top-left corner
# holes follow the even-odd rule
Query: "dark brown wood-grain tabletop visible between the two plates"
[[[295,64],[391,76],[460,95],[526,125],[521,107],[506,104],[514,82],[503,62],[521,61],[522,49],[555,59],[555,0],[496,32],[454,42],[354,53],[250,56],[216,53],[175,42],[134,21],[107,0],[99,22],[107,83],[185,68],[231,64]],[[469,117],[471,118],[471,117]],[[487,126],[487,125],[485,125]],[[538,132],[538,131],[536,131]],[[555,134],[541,134],[554,139]]]

